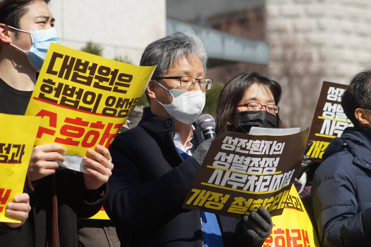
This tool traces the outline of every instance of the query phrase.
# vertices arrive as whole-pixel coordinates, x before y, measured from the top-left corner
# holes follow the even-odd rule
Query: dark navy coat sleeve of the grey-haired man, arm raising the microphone
[[[115,141],[110,147],[114,169],[104,204],[115,225],[122,229],[139,227],[180,208],[199,170],[196,161],[188,158],[159,179],[142,182],[139,168],[128,158],[132,157],[129,149],[123,142],[115,145]]]

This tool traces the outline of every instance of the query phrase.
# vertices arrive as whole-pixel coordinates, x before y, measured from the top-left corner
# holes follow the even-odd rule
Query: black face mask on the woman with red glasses
[[[277,128],[277,117],[266,111],[245,111],[235,113],[238,115],[239,124],[234,132],[249,134],[252,126],[262,128]]]

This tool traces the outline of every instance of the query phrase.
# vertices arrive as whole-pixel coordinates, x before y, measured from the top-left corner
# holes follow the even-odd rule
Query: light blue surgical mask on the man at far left
[[[34,69],[36,70],[40,70],[41,67],[43,66],[46,53],[47,53],[47,50],[49,49],[50,43],[58,44],[59,37],[58,37],[57,31],[55,30],[55,28],[52,27],[50,29],[36,30],[36,31],[30,30],[30,32],[27,32],[24,30],[16,29],[11,26],[8,26],[8,27],[18,30],[20,32],[29,33],[31,35],[32,47],[30,50],[22,50],[13,44],[10,44],[10,45],[26,53],[26,56],[30,64],[32,65],[32,67],[34,67]]]

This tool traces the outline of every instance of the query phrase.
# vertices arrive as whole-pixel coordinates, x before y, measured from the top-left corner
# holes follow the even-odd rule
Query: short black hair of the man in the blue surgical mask
[[[20,29],[20,19],[27,13],[28,6],[35,1],[45,1],[48,4],[50,0],[0,0],[0,23]],[[14,35],[17,38],[19,31],[14,30]]]

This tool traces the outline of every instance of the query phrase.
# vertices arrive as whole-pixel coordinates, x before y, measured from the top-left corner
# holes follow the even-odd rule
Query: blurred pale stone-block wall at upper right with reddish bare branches
[[[348,84],[371,63],[371,1],[266,0],[268,73],[289,126],[310,126],[323,80]]]

